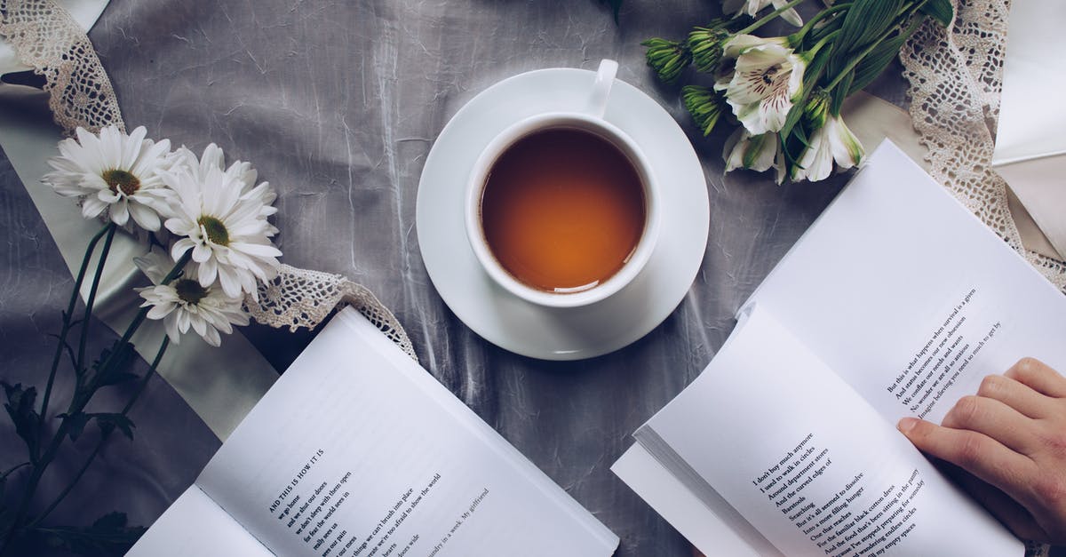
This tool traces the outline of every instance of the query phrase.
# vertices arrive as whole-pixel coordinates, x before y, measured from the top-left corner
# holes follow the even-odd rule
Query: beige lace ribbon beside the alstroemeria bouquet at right
[[[933,21],[900,52],[910,82],[910,118],[928,147],[931,173],[1060,290],[1066,264],[1025,250],[992,170],[1008,0],[953,0],[955,21]]]

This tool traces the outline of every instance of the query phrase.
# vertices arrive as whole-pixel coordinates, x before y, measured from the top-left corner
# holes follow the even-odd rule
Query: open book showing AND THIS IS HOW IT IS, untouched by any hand
[[[352,308],[134,556],[609,556],[592,514]]]

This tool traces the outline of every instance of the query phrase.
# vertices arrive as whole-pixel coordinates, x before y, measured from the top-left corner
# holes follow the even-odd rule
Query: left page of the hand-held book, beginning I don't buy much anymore
[[[758,305],[636,437],[661,440],[786,555],[1023,553]]]

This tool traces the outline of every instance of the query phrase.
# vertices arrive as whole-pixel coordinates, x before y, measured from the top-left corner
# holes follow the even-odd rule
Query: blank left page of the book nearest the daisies
[[[127,557],[273,555],[193,484],[148,528]]]

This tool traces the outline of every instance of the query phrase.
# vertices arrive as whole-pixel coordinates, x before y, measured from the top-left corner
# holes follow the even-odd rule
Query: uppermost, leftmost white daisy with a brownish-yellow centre
[[[60,156],[48,160],[54,171],[43,181],[61,195],[79,197],[86,219],[107,211],[119,226],[133,217],[142,228],[158,230],[159,213],[173,196],[160,178],[174,162],[169,140],[145,139],[143,126],[129,136],[115,126],[101,129],[99,136],[83,128],[76,133],[77,141],[60,142]]]

